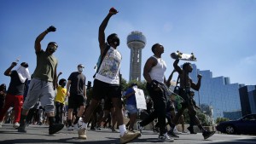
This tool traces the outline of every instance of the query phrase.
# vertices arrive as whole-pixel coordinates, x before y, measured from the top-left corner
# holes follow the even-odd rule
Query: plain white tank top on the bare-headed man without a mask
[[[164,76],[166,72],[166,62],[162,60],[161,58],[157,58],[155,56],[154,59],[157,60],[156,66],[152,67],[151,71],[149,72],[149,75],[152,80],[156,80],[160,82],[161,84],[164,84]]]

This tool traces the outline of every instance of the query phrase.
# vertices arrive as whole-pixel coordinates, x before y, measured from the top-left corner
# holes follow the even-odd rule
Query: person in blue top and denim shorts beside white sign
[[[137,102],[135,97],[135,90],[137,84],[131,84],[131,86],[125,91],[126,110],[130,113],[130,124],[128,130],[133,131],[134,124],[137,119]]]

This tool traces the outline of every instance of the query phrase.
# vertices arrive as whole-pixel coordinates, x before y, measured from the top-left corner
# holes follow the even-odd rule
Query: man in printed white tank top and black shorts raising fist
[[[123,112],[122,112],[122,101],[121,101],[121,89],[120,89],[120,78],[119,69],[122,60],[122,55],[119,53],[119,37],[116,33],[110,34],[105,37],[105,29],[108,26],[108,21],[114,15],[119,13],[116,9],[111,8],[107,16],[102,20],[102,24],[99,26],[98,41],[101,50],[102,64],[99,65],[96,72],[96,76],[93,82],[92,99],[90,106],[86,108],[84,112],[84,123],[78,130],[80,139],[87,139],[86,130],[87,124],[89,123],[91,114],[96,109],[98,103],[102,98],[107,97],[113,103],[115,108],[115,114],[117,123],[119,126],[120,143],[127,143],[137,139],[140,133],[132,133],[125,128]],[[106,53],[106,55],[104,55]]]

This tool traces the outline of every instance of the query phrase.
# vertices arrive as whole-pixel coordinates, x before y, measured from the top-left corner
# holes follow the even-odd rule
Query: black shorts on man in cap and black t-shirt
[[[75,109],[81,106],[85,106],[85,98],[84,95],[70,95],[68,97],[68,109]]]

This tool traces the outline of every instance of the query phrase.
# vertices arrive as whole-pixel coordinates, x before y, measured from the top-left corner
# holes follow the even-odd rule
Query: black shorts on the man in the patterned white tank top
[[[120,98],[121,99],[121,89],[117,84],[108,84],[100,80],[95,79],[92,88],[92,98],[96,101],[101,101],[105,97],[107,99]]]

